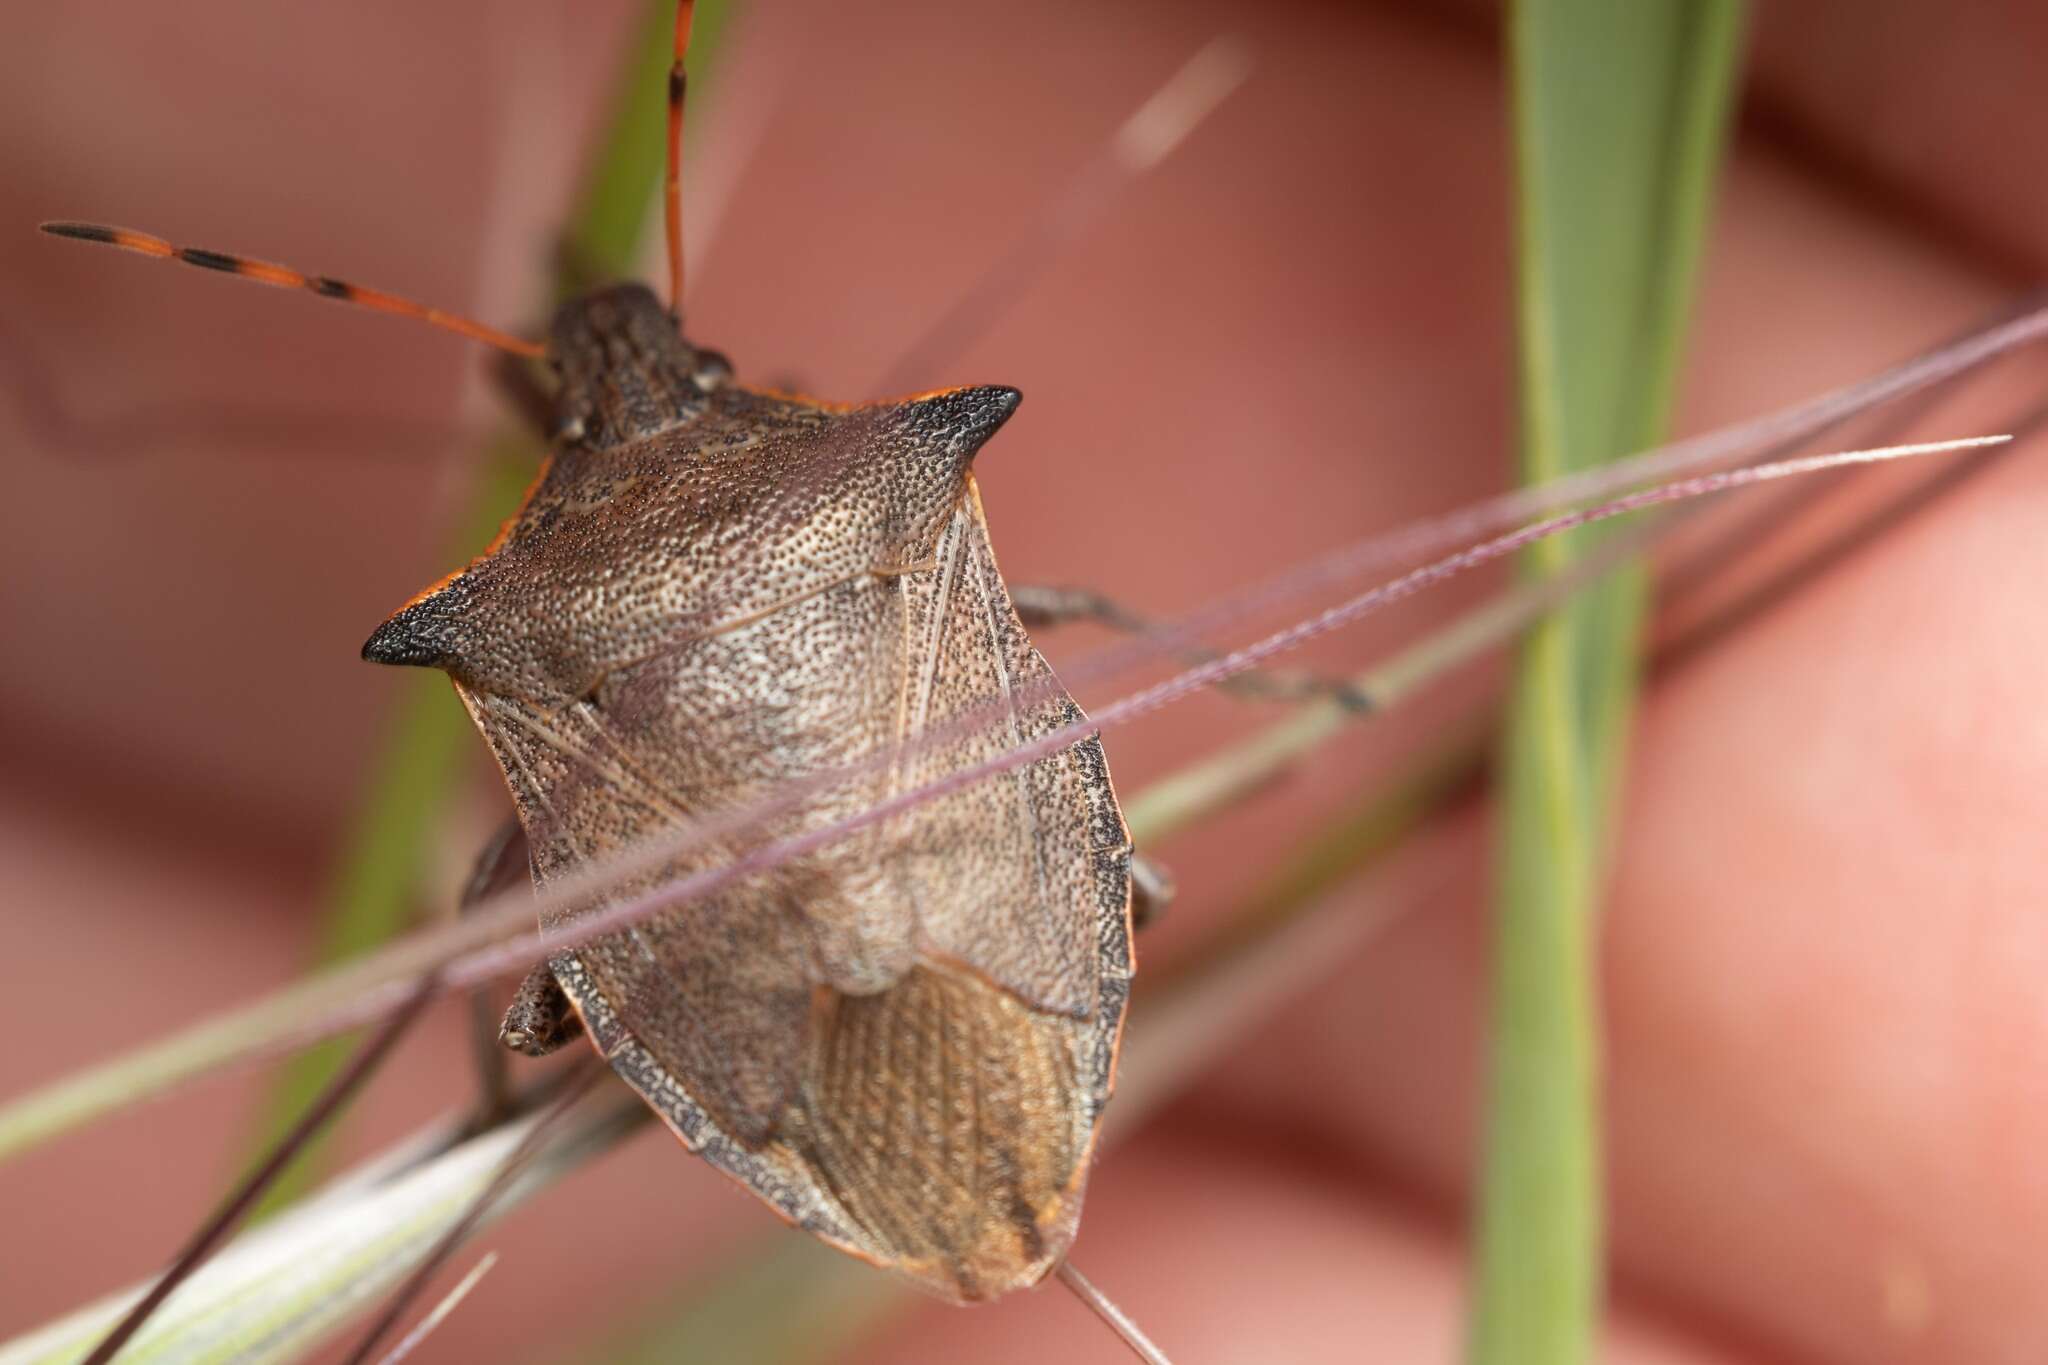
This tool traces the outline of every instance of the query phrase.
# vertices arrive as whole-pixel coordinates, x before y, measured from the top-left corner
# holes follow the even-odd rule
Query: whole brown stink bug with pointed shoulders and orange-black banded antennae
[[[817,403],[745,387],[682,336],[688,20],[684,0],[672,299],[600,289],[557,311],[545,348],[285,266],[45,225],[545,356],[553,454],[524,505],[362,647],[453,677],[518,814],[492,864],[528,860],[547,886],[893,753],[547,927],[1081,716],[1026,639],[971,475],[1014,389]],[[913,743],[991,702],[995,724]],[[1130,857],[1087,739],[557,954],[500,1038],[543,1054],[588,1033],[793,1224],[985,1300],[1038,1281],[1075,1234],[1133,972]]]

